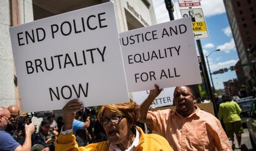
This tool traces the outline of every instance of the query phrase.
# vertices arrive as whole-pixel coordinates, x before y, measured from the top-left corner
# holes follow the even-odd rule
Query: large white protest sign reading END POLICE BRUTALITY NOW
[[[112,2],[10,28],[23,109],[128,102]],[[109,38],[111,36],[111,38]]]

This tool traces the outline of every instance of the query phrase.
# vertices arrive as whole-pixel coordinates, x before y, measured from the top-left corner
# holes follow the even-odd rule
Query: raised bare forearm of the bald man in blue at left
[[[35,125],[33,123],[30,123],[29,125],[25,124],[25,142],[23,145],[20,145],[19,147],[17,147],[14,151],[21,151],[21,150],[30,151],[32,147],[31,137],[34,132],[35,132]]]

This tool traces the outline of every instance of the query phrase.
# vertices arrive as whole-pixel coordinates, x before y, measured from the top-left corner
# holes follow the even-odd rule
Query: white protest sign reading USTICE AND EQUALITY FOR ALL
[[[119,36],[129,92],[201,83],[190,18]]]

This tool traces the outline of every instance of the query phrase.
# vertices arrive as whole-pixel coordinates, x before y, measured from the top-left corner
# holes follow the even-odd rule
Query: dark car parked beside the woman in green
[[[244,97],[241,99],[236,100],[237,104],[242,109],[241,116],[242,117],[248,117],[250,114],[250,108],[252,107],[252,104],[254,102],[254,97]]]

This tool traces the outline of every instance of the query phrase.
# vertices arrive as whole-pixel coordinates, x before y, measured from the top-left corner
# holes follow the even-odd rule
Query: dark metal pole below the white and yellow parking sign
[[[208,76],[208,73],[207,73],[207,67],[205,65],[205,57],[203,55],[203,48],[202,48],[202,44],[201,44],[200,39],[197,39],[197,47],[198,47],[198,51],[199,51],[200,56],[201,56],[201,62],[202,62],[202,67],[203,67],[202,72],[203,72],[203,78],[204,78],[204,81],[205,81],[205,87],[207,88],[208,96],[210,97],[210,99],[213,102],[213,110],[215,112],[215,116],[217,117],[218,113],[217,113],[217,110],[216,110],[216,101],[213,97],[213,92],[211,91],[210,80],[209,80],[209,76]]]

